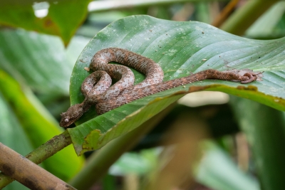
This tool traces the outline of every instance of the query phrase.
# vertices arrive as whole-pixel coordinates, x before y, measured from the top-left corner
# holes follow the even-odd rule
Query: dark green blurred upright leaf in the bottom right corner
[[[231,104],[252,148],[261,188],[285,189],[284,112],[237,97]]]

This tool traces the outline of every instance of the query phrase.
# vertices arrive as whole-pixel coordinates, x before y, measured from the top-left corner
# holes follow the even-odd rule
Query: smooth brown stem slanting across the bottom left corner
[[[30,189],[74,189],[1,142],[0,170]]]

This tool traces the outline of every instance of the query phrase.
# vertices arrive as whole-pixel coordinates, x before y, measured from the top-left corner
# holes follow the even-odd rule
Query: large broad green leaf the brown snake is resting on
[[[164,80],[181,78],[208,68],[249,68],[265,70],[264,81],[241,85],[230,81],[204,80],[130,102],[98,117],[95,117],[95,110],[91,109],[78,124],[89,120],[88,122],[69,129],[76,152],[81,154],[98,149],[111,139],[133,130],[182,96],[175,95],[176,93],[185,94],[207,88],[285,110],[284,41],[285,38],[256,41],[234,36],[205,23],[166,21],[150,16],[130,16],[111,23],[88,43],[78,58],[71,76],[72,104],[80,103],[84,98],[80,87],[89,75],[84,67],[89,66],[97,51],[109,47],[125,48],[152,58],[165,72]],[[137,71],[134,73],[135,83],[143,80],[142,74]],[[190,86],[193,88],[188,90]],[[198,86],[200,88],[195,88]]]

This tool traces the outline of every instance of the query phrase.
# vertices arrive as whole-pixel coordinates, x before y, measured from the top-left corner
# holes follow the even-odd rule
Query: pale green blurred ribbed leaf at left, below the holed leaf
[[[68,95],[72,67],[80,53],[79,48],[87,42],[86,38],[73,38],[66,50],[55,36],[2,30],[0,68],[36,93]]]

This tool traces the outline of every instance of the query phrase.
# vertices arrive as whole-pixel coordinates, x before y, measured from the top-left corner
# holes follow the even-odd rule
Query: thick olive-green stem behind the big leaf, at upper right
[[[247,1],[247,4],[244,4],[244,6],[234,12],[234,14],[222,24],[221,29],[242,36],[244,32],[247,31],[247,28],[276,2],[278,2],[278,0]]]

